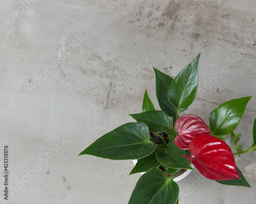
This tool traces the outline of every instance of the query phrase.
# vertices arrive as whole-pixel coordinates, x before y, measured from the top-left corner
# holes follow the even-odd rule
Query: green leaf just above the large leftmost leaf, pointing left
[[[173,127],[173,118],[165,115],[162,111],[147,111],[130,115],[137,122],[144,122],[152,133],[162,133]]]

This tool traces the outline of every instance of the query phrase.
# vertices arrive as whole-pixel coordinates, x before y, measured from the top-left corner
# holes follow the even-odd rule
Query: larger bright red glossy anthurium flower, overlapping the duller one
[[[190,154],[184,155],[207,179],[226,181],[240,179],[229,146],[214,136],[200,135],[189,144]]]

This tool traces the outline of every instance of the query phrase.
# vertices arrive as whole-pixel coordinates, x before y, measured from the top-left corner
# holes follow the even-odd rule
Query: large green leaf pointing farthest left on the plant
[[[140,159],[150,155],[156,146],[150,141],[146,124],[130,122],[103,135],[79,155],[93,155],[112,160]]]

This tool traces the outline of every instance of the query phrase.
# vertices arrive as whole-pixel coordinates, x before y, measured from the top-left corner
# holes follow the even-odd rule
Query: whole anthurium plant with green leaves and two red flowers
[[[221,104],[210,113],[209,126],[195,115],[179,117],[196,97],[199,58],[200,54],[175,79],[153,67],[161,110],[155,110],[146,90],[142,112],[131,114],[137,122],[117,127],[79,154],[138,160],[130,174],[145,173],[136,184],[129,204],[177,204],[179,186],[174,180],[187,169],[194,170],[193,165],[207,179],[250,187],[233,155],[240,157],[256,150],[256,120],[249,149],[237,144],[241,135],[234,133],[251,96]],[[226,135],[232,145],[225,142]]]

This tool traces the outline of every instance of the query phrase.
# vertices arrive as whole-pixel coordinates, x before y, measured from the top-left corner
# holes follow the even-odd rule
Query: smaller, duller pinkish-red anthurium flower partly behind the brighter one
[[[188,145],[195,137],[199,135],[208,135],[211,133],[205,122],[195,115],[183,115],[175,122],[175,130],[178,135],[174,143],[180,148],[187,150]]]

